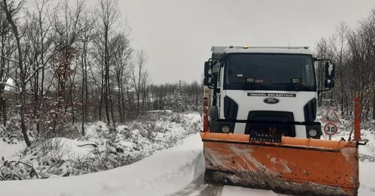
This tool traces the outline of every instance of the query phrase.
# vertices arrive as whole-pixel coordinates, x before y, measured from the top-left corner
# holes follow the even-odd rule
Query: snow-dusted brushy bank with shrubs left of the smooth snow
[[[54,178],[129,165],[197,133],[201,124],[199,120],[198,113],[150,114],[145,119],[116,128],[107,127],[104,122],[95,122],[86,127],[84,137],[44,140],[13,157],[9,157],[13,151],[9,152],[4,147],[0,156],[8,156],[0,161],[4,165],[0,167],[0,175],[9,180]]]

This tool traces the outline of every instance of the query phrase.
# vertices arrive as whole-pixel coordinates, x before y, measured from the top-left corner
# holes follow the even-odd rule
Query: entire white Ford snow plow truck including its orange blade
[[[290,195],[355,196],[360,141],[321,139],[335,65],[308,47],[213,46],[204,63],[204,181]],[[318,89],[316,62],[324,66]],[[356,134],[356,133],[355,133]]]

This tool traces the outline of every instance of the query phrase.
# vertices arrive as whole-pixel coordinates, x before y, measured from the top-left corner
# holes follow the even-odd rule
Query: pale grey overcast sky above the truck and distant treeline
[[[201,80],[211,46],[310,46],[341,21],[355,27],[374,0],[119,0],[153,83]]]

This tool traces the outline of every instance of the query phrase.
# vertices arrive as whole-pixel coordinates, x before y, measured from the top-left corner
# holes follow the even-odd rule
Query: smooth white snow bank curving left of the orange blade
[[[1,195],[12,196],[162,196],[176,192],[203,172],[202,165],[196,167],[199,158],[202,142],[194,134],[181,145],[135,164],[80,176],[3,181],[0,190]]]

